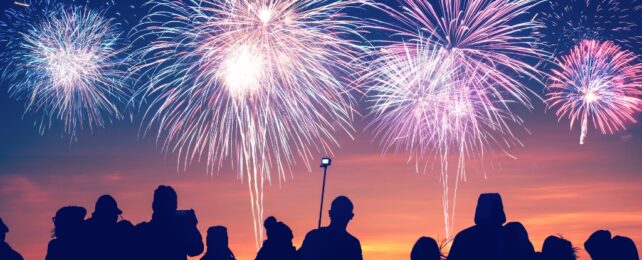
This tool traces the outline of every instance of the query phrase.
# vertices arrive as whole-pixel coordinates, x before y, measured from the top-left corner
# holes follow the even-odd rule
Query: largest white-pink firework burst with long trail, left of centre
[[[152,1],[138,27],[135,71],[150,75],[147,130],[187,167],[206,157],[209,173],[230,160],[247,179],[257,248],[263,187],[301,159],[331,152],[352,130],[352,75],[360,23],[342,13],[362,1]],[[356,37],[355,37],[356,36]],[[358,64],[356,64],[358,66]]]

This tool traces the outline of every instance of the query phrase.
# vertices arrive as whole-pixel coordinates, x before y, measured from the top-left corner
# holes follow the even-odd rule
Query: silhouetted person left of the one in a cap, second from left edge
[[[54,239],[49,242],[46,260],[87,259],[83,222],[87,210],[78,206],[59,209],[54,222]]]

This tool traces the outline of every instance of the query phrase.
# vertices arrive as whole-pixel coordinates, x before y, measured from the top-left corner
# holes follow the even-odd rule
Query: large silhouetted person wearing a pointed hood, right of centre
[[[506,222],[502,198],[497,193],[479,195],[475,226],[455,236],[448,260],[503,260],[505,246],[502,225]]]

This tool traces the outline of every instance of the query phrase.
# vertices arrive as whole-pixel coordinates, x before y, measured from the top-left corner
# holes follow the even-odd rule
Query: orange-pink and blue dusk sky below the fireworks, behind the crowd
[[[2,10],[7,7],[2,4]],[[155,136],[141,134],[137,112],[132,112],[133,122],[84,129],[73,142],[60,125],[41,135],[34,125],[37,117],[24,114],[24,104],[9,97],[7,88],[6,82],[0,84],[0,217],[11,230],[7,241],[25,259],[44,259],[58,208],[79,205],[91,214],[96,199],[111,194],[125,219],[148,221],[153,191],[161,184],[176,189],[180,209],[195,209],[203,235],[209,226],[227,226],[237,258],[254,258],[247,183],[234,169],[224,167],[213,176],[205,163],[181,169],[176,154],[162,153]],[[543,94],[541,87],[533,91]],[[558,122],[540,99],[531,97],[532,111],[517,109],[528,131],[515,130],[524,144],[510,150],[516,159],[491,152],[485,172],[470,163],[467,181],[458,190],[455,231],[474,224],[480,193],[498,192],[508,221],[522,222],[538,251],[547,236],[561,235],[578,247],[581,259],[588,259],[583,243],[598,229],[631,237],[640,248],[642,126],[629,125],[615,135],[591,128],[580,145],[577,127],[569,130],[568,121]],[[338,137],[341,146],[332,155],[324,211],[334,197],[350,197],[355,217],[348,230],[360,239],[364,258],[408,259],[419,237],[444,238],[438,171],[416,172],[406,154],[382,154],[365,127],[368,120],[356,116],[354,139]],[[297,247],[317,224],[322,169],[316,167],[318,159],[309,164],[312,171],[298,161],[285,182],[275,180],[265,191],[265,216],[288,224]],[[327,212],[323,223],[329,223]]]

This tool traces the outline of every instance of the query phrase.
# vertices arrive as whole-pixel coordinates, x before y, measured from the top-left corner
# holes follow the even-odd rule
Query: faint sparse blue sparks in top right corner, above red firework
[[[626,49],[642,51],[640,0],[548,1],[538,16],[539,37],[555,54],[567,54],[582,40],[613,41]]]

